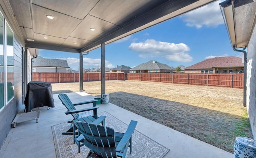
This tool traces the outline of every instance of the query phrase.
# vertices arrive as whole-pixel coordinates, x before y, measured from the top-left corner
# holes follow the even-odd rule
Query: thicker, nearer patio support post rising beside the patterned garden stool
[[[101,96],[105,94],[106,90],[106,74],[105,74],[105,43],[101,44]]]

